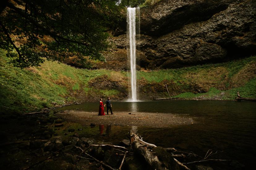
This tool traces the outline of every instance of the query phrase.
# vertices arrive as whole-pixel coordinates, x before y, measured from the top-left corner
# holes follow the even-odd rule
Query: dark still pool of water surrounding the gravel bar
[[[222,151],[209,159],[235,160],[232,164],[237,164],[240,167],[238,169],[251,169],[255,164],[256,102],[166,100],[112,102],[112,105],[113,112],[173,113],[192,117],[196,123],[169,128],[101,125],[91,129],[90,137],[117,144],[126,139],[127,133],[133,128],[144,141],[157,146],[173,147],[202,157],[209,149],[213,152]],[[98,111],[98,106],[99,103],[84,103],[66,106],[60,110],[79,108],[84,111]]]

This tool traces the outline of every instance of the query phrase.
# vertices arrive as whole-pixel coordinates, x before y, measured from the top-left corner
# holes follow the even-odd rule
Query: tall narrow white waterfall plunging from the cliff
[[[127,55],[130,57],[130,102],[136,102],[137,89],[136,89],[136,11],[139,13],[139,7],[127,8]],[[137,23],[137,30],[139,30],[139,24]],[[138,31],[137,31],[138,32]]]

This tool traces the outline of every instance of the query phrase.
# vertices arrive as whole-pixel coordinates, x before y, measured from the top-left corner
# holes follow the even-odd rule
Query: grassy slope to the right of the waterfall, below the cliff
[[[184,91],[181,94],[176,93],[173,97],[233,100],[237,91],[240,91],[242,97],[256,98],[255,56],[180,69],[139,71],[137,77],[149,83],[161,83],[166,80],[167,84],[168,81],[173,82],[179,91]],[[198,93],[198,89],[207,93]],[[168,97],[168,94],[165,95]]]

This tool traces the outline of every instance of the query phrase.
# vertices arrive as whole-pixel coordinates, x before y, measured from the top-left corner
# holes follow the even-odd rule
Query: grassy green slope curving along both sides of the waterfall
[[[96,81],[98,77],[104,77],[112,83],[128,84],[126,72],[79,70],[50,61],[46,61],[41,67],[19,69],[7,64],[8,59],[4,51],[0,51],[0,56],[0,107],[2,111],[37,111],[43,107],[68,102],[88,101],[92,98],[96,100],[107,96],[115,98],[120,94],[118,88],[89,87],[88,82]],[[237,90],[240,91],[242,97],[256,98],[255,64],[256,57],[249,57],[214,65],[150,72],[138,71],[137,78],[139,81],[145,80],[146,85],[160,84],[162,86],[163,82],[171,81],[177,89],[183,92],[181,94],[179,91],[174,92],[177,94],[174,97],[185,99],[216,99],[218,96],[218,99],[232,100],[236,97]],[[97,81],[100,83],[101,80]],[[194,94],[193,89],[201,89],[207,93]],[[161,93],[168,96],[165,90]]]

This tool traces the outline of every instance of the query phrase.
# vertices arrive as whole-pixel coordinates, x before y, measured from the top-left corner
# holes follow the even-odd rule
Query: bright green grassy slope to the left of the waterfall
[[[89,80],[113,74],[113,71],[105,70],[79,70],[51,61],[45,61],[41,67],[19,69],[7,63],[4,51],[0,51],[0,56],[2,111],[39,111],[43,107],[81,102],[81,93],[83,97],[96,91],[88,87]],[[116,95],[118,91],[101,90],[95,93],[107,96]]]

